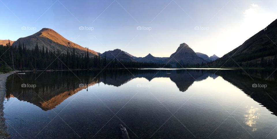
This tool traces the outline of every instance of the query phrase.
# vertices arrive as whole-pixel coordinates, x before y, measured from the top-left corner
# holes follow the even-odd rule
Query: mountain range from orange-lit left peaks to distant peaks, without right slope
[[[0,44],[5,45],[8,43],[8,40],[0,40]],[[73,52],[73,49],[75,49],[75,53],[78,55],[85,55],[87,52],[87,48],[82,47],[76,43],[71,42],[70,40],[67,40],[63,36],[61,36],[56,31],[50,29],[50,28],[42,28],[39,32],[36,32],[33,35],[19,38],[16,41],[11,41],[10,43],[13,47],[17,47],[19,43],[23,44],[26,49],[33,49],[36,45],[38,45],[39,49],[48,49],[48,51],[59,51],[61,53],[67,53],[67,49],[69,50],[69,53]],[[90,50],[89,56],[94,57],[95,55],[99,55],[101,57],[105,57],[107,59],[114,59],[115,57],[117,60],[120,61],[138,61],[138,62],[145,62],[145,63],[168,63],[171,64],[173,67],[176,66],[176,63],[180,63],[181,65],[184,64],[201,64],[207,63],[209,61],[213,61],[214,59],[217,59],[214,55],[213,58],[209,58],[207,55],[202,53],[195,53],[187,44],[182,43],[178,47],[175,53],[173,53],[170,57],[154,57],[151,54],[148,54],[145,57],[136,57],[134,55],[131,55],[125,51],[122,51],[120,49],[115,49],[112,51],[106,51],[104,53],[97,53],[96,51]],[[199,55],[201,54],[201,55]],[[205,56],[205,57],[203,57]],[[174,57],[174,58],[173,58]]]

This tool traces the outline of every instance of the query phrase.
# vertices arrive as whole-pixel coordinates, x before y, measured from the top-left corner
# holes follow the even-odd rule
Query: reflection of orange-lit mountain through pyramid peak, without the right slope
[[[212,73],[203,73],[203,71],[199,70],[190,72],[186,72],[185,70],[171,71],[175,74],[168,74],[169,72],[166,71],[160,71],[157,74],[156,70],[133,70],[132,74],[134,75],[127,70],[106,70],[102,74],[97,75],[98,72],[100,71],[78,71],[78,76],[75,76],[72,72],[61,71],[44,72],[41,75],[40,73],[33,74],[30,72],[22,76],[21,78],[23,80],[20,82],[13,82],[13,80],[18,80],[19,78],[13,75],[7,81],[6,98],[16,97],[20,101],[27,101],[47,111],[55,108],[63,100],[86,88],[79,87],[79,84],[93,86],[94,84],[103,82],[104,84],[118,87],[135,77],[146,78],[149,81],[153,78],[167,77],[177,85],[180,91],[185,92],[194,81],[201,81],[208,76],[212,76]],[[37,78],[39,75],[40,77]],[[216,78],[216,76],[214,75],[213,78]],[[21,84],[23,83],[36,84],[36,87],[22,88]]]

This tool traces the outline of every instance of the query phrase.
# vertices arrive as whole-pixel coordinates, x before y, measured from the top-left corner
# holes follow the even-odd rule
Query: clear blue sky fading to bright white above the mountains
[[[277,19],[276,0],[0,0],[0,39],[51,28],[103,53],[169,57],[181,43],[224,54]]]

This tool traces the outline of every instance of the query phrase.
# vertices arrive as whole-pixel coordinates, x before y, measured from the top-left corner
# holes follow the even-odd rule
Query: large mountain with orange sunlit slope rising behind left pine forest
[[[59,50],[62,53],[67,53],[66,49],[69,49],[69,52],[71,53],[73,51],[73,48],[75,48],[75,52],[79,55],[85,55],[85,53],[87,52],[87,48],[73,43],[70,40],[67,40],[59,33],[55,32],[50,28],[42,28],[42,30],[33,35],[24,38],[19,38],[13,43],[13,46],[16,47],[19,43],[24,43],[25,47],[30,50],[34,48],[38,43],[39,49],[41,49],[42,46],[44,46],[44,49],[46,49],[47,46],[48,51]],[[98,55],[98,53],[89,49],[89,56],[94,55]]]

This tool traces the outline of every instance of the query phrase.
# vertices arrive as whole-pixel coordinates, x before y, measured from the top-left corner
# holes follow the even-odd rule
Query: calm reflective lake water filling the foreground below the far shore
[[[130,138],[277,138],[273,71],[13,74],[4,104],[8,133],[11,138],[121,138],[122,124]]]

